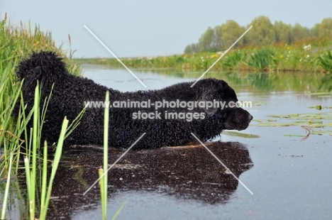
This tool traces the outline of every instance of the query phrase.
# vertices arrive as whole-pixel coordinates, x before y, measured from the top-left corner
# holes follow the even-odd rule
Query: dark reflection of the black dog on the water
[[[206,146],[240,179],[253,167],[248,149],[235,142],[206,143]],[[109,164],[123,151],[110,150]],[[72,211],[99,204],[99,185],[83,193],[98,179],[102,152],[87,146],[72,146],[58,168],[48,214],[70,216]],[[109,201],[121,192],[155,192],[170,199],[195,200],[206,204],[226,203],[238,180],[218,163],[202,145],[129,151],[108,172]],[[188,200],[189,199],[189,200]],[[91,207],[90,207],[91,208]],[[89,209],[90,209],[89,208]]]

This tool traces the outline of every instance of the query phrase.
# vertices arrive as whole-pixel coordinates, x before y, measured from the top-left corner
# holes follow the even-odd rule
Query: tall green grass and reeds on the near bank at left
[[[4,198],[1,199],[1,219],[6,218],[7,199],[9,197],[10,185],[15,183],[15,177],[19,168],[19,159],[25,158],[26,184],[28,189],[28,216],[35,219],[39,211],[39,218],[45,219],[48,210],[48,202],[52,190],[57,164],[61,156],[61,149],[65,137],[77,127],[84,109],[70,126],[65,119],[57,150],[53,160],[52,173],[47,187],[48,168],[48,145],[44,143],[43,159],[41,158],[41,131],[45,119],[48,101],[45,101],[40,112],[40,87],[35,89],[35,106],[26,114],[26,106],[23,104],[21,85],[16,78],[16,66],[33,51],[50,50],[65,57],[65,52],[55,45],[52,35],[48,31],[40,31],[38,26],[12,26],[9,19],[0,21],[0,179],[6,178],[6,189]],[[70,57],[72,51],[70,50]],[[80,65],[71,59],[65,59],[69,72],[80,75]],[[51,95],[51,94],[50,94]],[[49,100],[49,99],[48,99]],[[21,104],[21,106],[20,106]],[[13,115],[14,109],[18,108],[18,114]],[[28,128],[28,121],[33,120],[33,128]],[[31,129],[28,136],[27,129]],[[21,137],[24,137],[21,139]],[[2,149],[1,149],[2,148]],[[23,149],[23,150],[22,150]],[[24,150],[25,149],[25,150]],[[41,162],[43,161],[43,165]],[[41,175],[39,175],[41,173]],[[14,182],[13,182],[14,181]],[[41,192],[40,194],[38,192]],[[1,192],[2,193],[2,192]],[[37,206],[36,204],[40,204]],[[25,216],[26,218],[26,216]]]

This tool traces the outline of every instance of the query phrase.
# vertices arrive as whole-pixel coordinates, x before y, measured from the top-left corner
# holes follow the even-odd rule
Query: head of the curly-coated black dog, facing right
[[[223,80],[201,79],[196,85],[197,99],[216,103],[204,108],[208,117],[215,117],[223,123],[223,129],[244,130],[248,128],[253,116],[248,111],[238,107],[238,98],[234,90]],[[220,120],[219,120],[220,119]]]

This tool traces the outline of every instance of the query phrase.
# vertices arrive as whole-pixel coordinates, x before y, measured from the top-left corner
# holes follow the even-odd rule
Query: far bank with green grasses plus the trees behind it
[[[250,27],[228,53],[225,51]],[[182,55],[129,57],[121,60],[133,68],[172,68],[183,72],[204,71],[222,57],[212,71],[332,71],[332,18],[324,18],[313,28],[294,26],[266,16],[253,19],[247,27],[236,21],[208,28],[198,43],[187,45]],[[79,62],[121,67],[113,58],[80,59]]]

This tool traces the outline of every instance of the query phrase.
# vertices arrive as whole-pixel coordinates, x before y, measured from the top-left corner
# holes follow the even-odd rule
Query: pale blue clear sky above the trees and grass
[[[183,53],[206,28],[226,20],[246,26],[264,15],[311,28],[332,17],[332,0],[0,1],[0,18],[5,12],[13,24],[38,23],[64,48],[69,33],[75,57],[112,57],[84,25],[118,57],[133,57]]]

